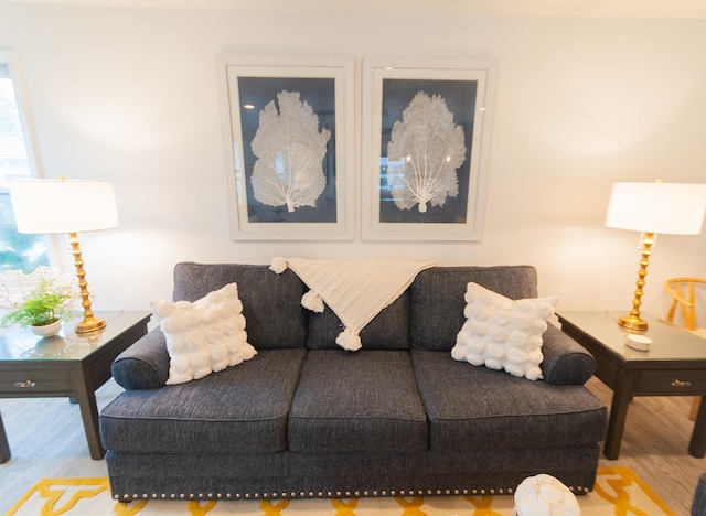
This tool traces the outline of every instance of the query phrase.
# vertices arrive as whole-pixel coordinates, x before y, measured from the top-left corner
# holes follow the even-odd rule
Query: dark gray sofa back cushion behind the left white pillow
[[[304,283],[291,270],[277,275],[264,265],[181,262],[174,267],[174,301],[194,302],[236,282],[247,341],[256,350],[306,347]]]

